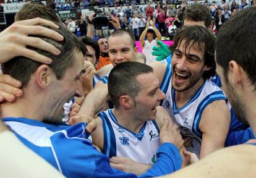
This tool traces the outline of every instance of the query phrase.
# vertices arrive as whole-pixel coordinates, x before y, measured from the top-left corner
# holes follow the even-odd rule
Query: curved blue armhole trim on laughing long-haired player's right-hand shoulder
[[[201,103],[198,105],[197,111],[195,112],[195,119],[194,123],[192,126],[192,130],[195,134],[198,135],[198,137],[202,138],[202,132],[199,129],[199,122],[201,120],[202,114],[203,114],[203,109],[208,106],[208,104],[213,103],[213,101],[217,100],[228,100],[226,96],[224,95],[223,91],[215,91],[205,97]]]

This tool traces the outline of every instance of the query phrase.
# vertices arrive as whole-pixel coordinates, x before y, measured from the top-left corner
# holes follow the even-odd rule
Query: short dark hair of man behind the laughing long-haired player
[[[204,21],[207,28],[211,25],[211,14],[203,4],[193,4],[187,7],[183,15],[183,20],[185,19],[194,22]]]

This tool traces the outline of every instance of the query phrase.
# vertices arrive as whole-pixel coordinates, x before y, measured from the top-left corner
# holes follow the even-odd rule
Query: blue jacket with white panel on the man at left
[[[137,177],[110,166],[109,159],[87,139],[85,122],[54,125],[22,117],[6,117],[3,121],[23,144],[66,177]],[[171,143],[164,143],[156,156],[153,167],[140,177],[162,176],[181,168],[181,155]]]

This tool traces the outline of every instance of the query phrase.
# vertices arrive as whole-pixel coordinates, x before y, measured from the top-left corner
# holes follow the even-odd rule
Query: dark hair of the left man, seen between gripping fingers
[[[64,40],[59,42],[42,36],[36,37],[56,46],[56,48],[61,51],[59,56],[55,56],[54,54],[48,53],[41,49],[32,48],[30,46],[27,48],[53,59],[53,62],[49,64],[49,67],[53,70],[58,80],[60,80],[64,76],[66,69],[74,64],[74,54],[77,53],[77,51],[81,51],[83,55],[85,55],[87,49],[85,48],[85,45],[83,45],[82,41],[79,41],[77,36],[66,28],[59,27],[57,30],[52,30],[55,30],[64,36]],[[9,74],[17,80],[20,80],[20,82],[22,82],[22,87],[25,87],[30,80],[30,76],[34,74],[36,69],[41,65],[41,62],[33,61],[27,57],[18,56],[4,63],[4,74]]]

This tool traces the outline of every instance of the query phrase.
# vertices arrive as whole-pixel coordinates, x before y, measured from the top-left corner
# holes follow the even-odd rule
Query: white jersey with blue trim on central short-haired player
[[[103,122],[103,153],[111,158],[122,156],[143,164],[154,164],[156,151],[161,145],[159,129],[155,121],[147,121],[136,134],[119,125],[113,109],[100,112]]]

